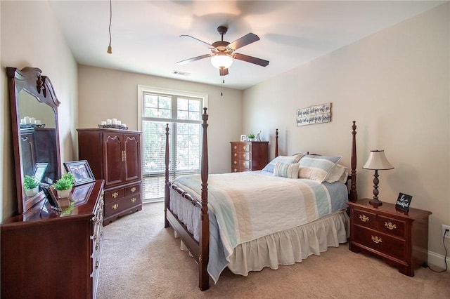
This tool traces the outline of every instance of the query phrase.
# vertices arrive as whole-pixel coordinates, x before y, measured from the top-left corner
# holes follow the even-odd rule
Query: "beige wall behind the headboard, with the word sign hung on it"
[[[441,255],[442,224],[450,225],[449,13],[445,4],[253,86],[243,105],[244,130],[267,138],[278,128],[281,154],[342,155],[345,165],[356,121],[359,197],[373,196],[373,171],[361,169],[369,151],[385,150],[395,168],[379,173],[380,199],[403,192],[432,211],[429,249]],[[297,109],[325,102],[330,123],[296,126]]]

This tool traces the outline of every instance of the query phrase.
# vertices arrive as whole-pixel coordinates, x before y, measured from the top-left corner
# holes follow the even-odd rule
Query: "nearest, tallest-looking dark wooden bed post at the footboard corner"
[[[210,260],[210,218],[208,217],[208,142],[207,142],[207,108],[203,108],[203,146],[202,146],[202,233],[200,234],[200,256],[199,262],[199,287],[205,291],[210,288],[210,275],[207,272],[207,265]]]

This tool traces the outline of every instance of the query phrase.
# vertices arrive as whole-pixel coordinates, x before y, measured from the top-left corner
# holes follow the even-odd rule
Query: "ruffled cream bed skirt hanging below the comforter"
[[[191,226],[191,232],[197,236],[196,230],[200,225],[193,225],[198,224],[198,219],[192,218],[192,215],[196,214],[193,212],[196,208],[186,200],[177,204],[171,202],[171,206],[182,215],[184,221],[189,220],[188,226]],[[186,214],[191,217],[187,217]],[[195,229],[192,229],[192,226]],[[178,237],[176,231],[175,237]],[[228,267],[234,274],[243,276],[264,267],[275,270],[278,269],[278,265],[301,263],[311,254],[320,255],[321,252],[327,251],[328,247],[338,247],[340,243],[347,242],[347,237],[349,237],[349,217],[345,211],[337,211],[306,225],[238,245],[228,258]],[[183,241],[181,250],[187,251]]]

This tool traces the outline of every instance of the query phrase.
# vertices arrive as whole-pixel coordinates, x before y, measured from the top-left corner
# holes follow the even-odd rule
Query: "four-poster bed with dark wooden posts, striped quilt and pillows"
[[[347,199],[357,199],[355,122],[352,166],[349,175],[345,172],[345,182],[328,182],[325,177],[317,182],[297,176],[293,180],[278,173],[285,166],[291,172],[294,169],[297,175],[298,165],[300,173],[308,169],[306,164],[302,168],[303,161],[319,161],[297,154],[297,160],[282,163],[294,156],[278,157],[278,132],[275,152],[280,159],[276,164],[271,162],[269,172],[208,175],[207,119],[204,108],[201,182],[193,175],[170,182],[168,125],[165,151],[165,227],[172,226],[197,261],[202,291],[209,288],[210,277],[217,282],[224,267],[243,275],[262,267],[276,269],[278,265],[301,262],[308,255],[319,255],[328,246],[347,241],[346,203]],[[340,157],[317,156],[317,159],[333,167]],[[348,180],[351,184],[347,187]],[[299,193],[301,200],[297,198]],[[255,251],[260,256],[255,256]]]

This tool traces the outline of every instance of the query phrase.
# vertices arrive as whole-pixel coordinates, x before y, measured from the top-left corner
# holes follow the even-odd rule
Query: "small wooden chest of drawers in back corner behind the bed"
[[[231,172],[260,171],[269,163],[269,141],[231,141]]]

